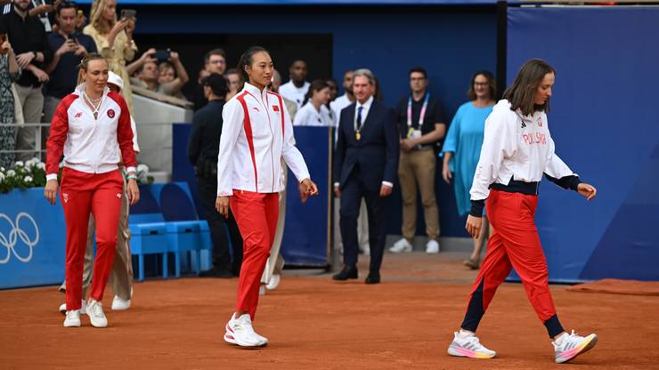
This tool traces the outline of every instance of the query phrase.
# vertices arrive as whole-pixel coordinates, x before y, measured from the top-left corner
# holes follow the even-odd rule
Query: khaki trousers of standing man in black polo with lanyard
[[[398,164],[403,196],[403,237],[410,243],[417,230],[417,186],[429,239],[439,237],[439,213],[435,198],[435,151],[431,148],[404,151]]]

